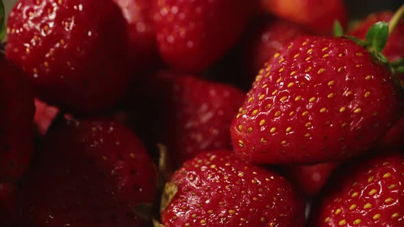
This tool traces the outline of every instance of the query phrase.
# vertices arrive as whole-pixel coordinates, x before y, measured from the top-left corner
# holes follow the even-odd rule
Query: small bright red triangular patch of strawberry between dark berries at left
[[[39,135],[45,135],[47,133],[49,126],[51,126],[53,120],[58,115],[58,108],[47,105],[38,99],[35,99],[35,116],[34,122],[38,126]]]

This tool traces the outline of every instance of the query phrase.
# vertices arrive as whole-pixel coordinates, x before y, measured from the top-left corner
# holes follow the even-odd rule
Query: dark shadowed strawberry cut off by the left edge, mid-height
[[[24,72],[0,54],[0,182],[16,181],[31,161],[34,94]]]

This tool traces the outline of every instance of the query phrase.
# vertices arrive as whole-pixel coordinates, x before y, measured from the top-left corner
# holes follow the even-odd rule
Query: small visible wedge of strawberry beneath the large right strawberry
[[[338,166],[338,163],[320,163],[315,165],[286,166],[286,173],[290,181],[305,194],[316,196],[327,183],[329,175]]]

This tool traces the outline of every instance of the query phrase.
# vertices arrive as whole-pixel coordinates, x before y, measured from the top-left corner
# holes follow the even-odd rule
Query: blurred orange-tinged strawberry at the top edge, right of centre
[[[338,20],[348,18],[342,0],[260,0],[262,8],[275,16],[303,25],[318,35],[329,35]]]

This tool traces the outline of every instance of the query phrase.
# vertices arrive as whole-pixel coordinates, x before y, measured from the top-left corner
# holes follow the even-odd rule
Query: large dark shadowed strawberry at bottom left
[[[156,172],[142,142],[109,120],[69,120],[44,139],[23,181],[21,226],[143,226]]]

